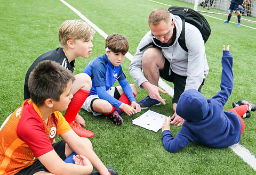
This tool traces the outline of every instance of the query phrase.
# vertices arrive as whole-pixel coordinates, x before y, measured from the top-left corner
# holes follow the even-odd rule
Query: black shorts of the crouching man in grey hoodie
[[[165,59],[164,69],[159,71],[160,77],[162,77],[166,81],[173,82],[174,95],[172,98],[172,103],[178,103],[181,94],[185,90],[187,77],[180,76],[177,73],[174,73],[172,70],[171,70],[171,74],[169,76],[169,70],[170,70],[170,62]],[[201,86],[198,88],[199,92],[201,92],[201,88],[203,85],[204,85],[204,79],[203,79]]]

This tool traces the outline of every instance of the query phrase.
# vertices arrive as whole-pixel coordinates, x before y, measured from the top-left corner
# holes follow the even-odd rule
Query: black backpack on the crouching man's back
[[[174,15],[179,16],[182,20],[182,30],[178,42],[184,51],[188,52],[185,41],[185,22],[188,22],[197,27],[203,36],[204,43],[206,43],[207,39],[211,35],[211,27],[202,14],[193,9],[177,6],[169,7],[168,11]]]

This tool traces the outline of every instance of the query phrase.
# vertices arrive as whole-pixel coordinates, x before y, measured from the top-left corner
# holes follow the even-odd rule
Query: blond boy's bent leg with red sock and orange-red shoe
[[[71,86],[71,93],[74,94],[74,96],[68,105],[68,109],[66,110],[64,117],[78,136],[92,137],[94,136],[92,131],[86,130],[79,125],[81,124],[82,126],[85,126],[82,116],[78,114],[78,111],[81,109],[81,106],[90,93],[92,86],[91,78],[86,73],[79,73],[75,78],[76,79]],[[78,119],[80,123],[75,123],[77,115],[79,118],[82,118],[81,120]]]

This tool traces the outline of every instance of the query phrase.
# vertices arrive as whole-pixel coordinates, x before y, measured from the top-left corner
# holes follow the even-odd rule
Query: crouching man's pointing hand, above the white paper
[[[162,102],[163,104],[165,104],[165,99],[163,99],[159,95],[159,91],[161,91],[161,93],[163,93],[163,94],[167,94],[166,91],[159,88],[158,86],[155,86],[155,85],[151,84],[149,81],[143,82],[141,84],[141,86],[148,91],[148,95],[149,95],[150,98],[157,99],[159,102]]]

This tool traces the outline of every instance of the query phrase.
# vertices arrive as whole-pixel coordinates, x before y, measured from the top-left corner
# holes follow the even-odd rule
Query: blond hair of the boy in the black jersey
[[[69,39],[83,39],[87,41],[95,34],[95,30],[82,20],[64,21],[59,28],[60,47],[66,48]]]

